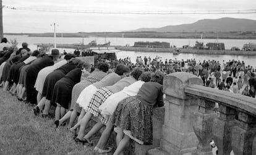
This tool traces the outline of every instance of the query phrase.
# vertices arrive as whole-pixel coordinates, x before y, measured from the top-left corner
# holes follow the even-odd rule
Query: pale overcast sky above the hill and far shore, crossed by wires
[[[162,12],[162,11],[212,11],[212,10],[256,10],[255,0],[2,0],[4,7],[4,33],[53,32],[53,23],[58,33],[129,31],[138,28],[159,28],[167,25],[194,23],[202,19],[232,17],[256,20],[256,14],[85,14],[71,12],[36,11],[87,10],[105,12]]]

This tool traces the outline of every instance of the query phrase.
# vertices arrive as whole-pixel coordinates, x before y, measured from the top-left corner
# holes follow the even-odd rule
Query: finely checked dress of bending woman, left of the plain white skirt
[[[83,91],[84,88],[86,88],[89,85],[92,85],[92,83],[100,82],[100,80],[104,78],[106,75],[107,73],[95,69],[87,78],[85,78],[85,80],[82,80],[81,82],[77,83],[72,89],[70,110],[74,109],[74,111],[81,113],[82,107],[80,107],[77,103],[77,98],[79,98],[80,93]]]

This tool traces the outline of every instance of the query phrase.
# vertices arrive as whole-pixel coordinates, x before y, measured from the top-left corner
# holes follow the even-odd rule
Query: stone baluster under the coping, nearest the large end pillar
[[[215,102],[198,99],[198,112],[194,114],[194,132],[199,142],[195,154],[212,154],[209,145],[213,138],[211,129],[213,120],[218,117],[213,111],[214,107]]]

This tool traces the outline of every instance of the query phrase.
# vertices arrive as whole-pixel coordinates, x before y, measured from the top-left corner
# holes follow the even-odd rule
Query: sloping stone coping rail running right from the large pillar
[[[228,107],[233,107],[256,115],[256,99],[242,94],[234,94],[228,91],[216,90],[202,85],[188,85],[184,88],[186,94],[197,96],[198,98],[210,99],[217,103],[224,104]]]

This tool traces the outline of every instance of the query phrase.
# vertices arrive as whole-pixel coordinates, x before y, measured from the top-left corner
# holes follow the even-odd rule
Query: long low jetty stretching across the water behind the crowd
[[[128,46],[115,46],[121,51],[135,52],[174,52],[174,48],[136,48]],[[231,51],[231,50],[206,50],[206,49],[179,49],[181,53],[189,54],[213,54],[213,55],[234,55],[234,56],[256,56],[256,51]]]

